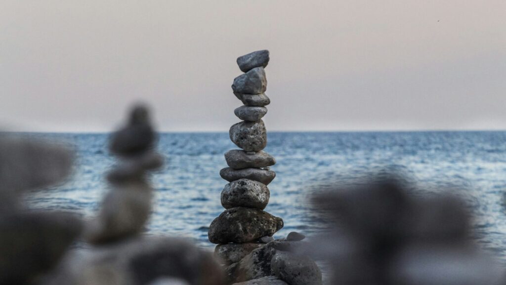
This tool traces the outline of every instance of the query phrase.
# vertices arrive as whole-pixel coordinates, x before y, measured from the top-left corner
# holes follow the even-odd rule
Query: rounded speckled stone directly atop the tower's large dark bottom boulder
[[[221,193],[221,203],[225,209],[246,207],[264,210],[269,203],[269,197],[269,188],[264,184],[254,180],[239,179],[225,185]]]

